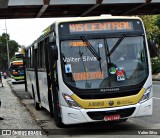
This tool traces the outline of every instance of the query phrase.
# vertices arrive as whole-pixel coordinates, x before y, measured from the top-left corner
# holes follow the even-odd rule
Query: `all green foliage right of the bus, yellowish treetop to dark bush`
[[[160,73],[160,15],[140,16],[143,20],[152,63],[152,73]]]

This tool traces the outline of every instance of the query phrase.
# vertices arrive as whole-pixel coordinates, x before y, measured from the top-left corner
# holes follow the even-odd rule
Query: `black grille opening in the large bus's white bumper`
[[[87,112],[87,114],[92,120],[103,120],[105,116],[115,115],[115,114],[119,114],[121,118],[129,117],[133,114],[134,111],[135,111],[135,107],[113,110],[113,111]]]

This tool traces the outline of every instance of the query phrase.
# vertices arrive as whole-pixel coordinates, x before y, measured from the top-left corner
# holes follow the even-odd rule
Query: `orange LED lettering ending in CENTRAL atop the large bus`
[[[131,21],[122,22],[92,22],[92,23],[73,23],[69,24],[71,34],[80,32],[99,32],[99,31],[132,31]]]

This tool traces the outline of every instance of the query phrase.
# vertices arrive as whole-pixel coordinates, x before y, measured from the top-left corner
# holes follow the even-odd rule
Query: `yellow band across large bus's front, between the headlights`
[[[71,97],[84,109],[96,109],[96,108],[109,108],[109,107],[120,107],[127,105],[137,104],[142,98],[145,89],[142,88],[136,95],[118,97],[118,98],[106,98],[106,99],[94,99],[87,100],[81,99],[77,95],[73,94]]]

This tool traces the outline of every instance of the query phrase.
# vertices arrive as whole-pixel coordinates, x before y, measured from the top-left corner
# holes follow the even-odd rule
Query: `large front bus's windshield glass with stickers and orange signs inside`
[[[81,39],[61,41],[64,82],[79,89],[99,89],[136,85],[143,81],[148,75],[144,37],[125,36],[114,48],[120,39],[87,40],[101,60],[97,60]]]

